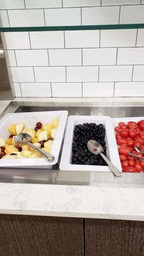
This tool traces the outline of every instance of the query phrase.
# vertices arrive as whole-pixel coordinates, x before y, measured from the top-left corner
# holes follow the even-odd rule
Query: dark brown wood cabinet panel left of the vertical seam
[[[0,215],[1,256],[83,256],[83,219]]]

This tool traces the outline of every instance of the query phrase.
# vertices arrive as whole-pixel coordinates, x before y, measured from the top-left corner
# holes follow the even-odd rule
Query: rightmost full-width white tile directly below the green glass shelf
[[[100,47],[134,47],[136,29],[101,30]]]

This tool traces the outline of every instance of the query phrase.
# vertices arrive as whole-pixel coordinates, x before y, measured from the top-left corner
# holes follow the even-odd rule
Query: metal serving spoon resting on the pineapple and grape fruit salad
[[[54,161],[54,156],[52,156],[51,154],[45,152],[41,148],[38,148],[35,145],[33,145],[32,143],[30,143],[29,141],[31,141],[31,139],[32,139],[31,136],[27,133],[20,133],[20,134],[17,134],[14,137],[14,140],[15,140],[16,143],[18,143],[18,144],[22,144],[22,143],[28,144],[29,147],[35,149],[38,153],[40,153],[46,161],[48,161],[49,163],[53,162]]]

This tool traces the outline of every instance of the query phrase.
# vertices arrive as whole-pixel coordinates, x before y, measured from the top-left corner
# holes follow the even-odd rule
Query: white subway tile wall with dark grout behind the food
[[[144,0],[1,0],[3,26],[144,23]],[[144,96],[144,29],[4,33],[16,97]]]

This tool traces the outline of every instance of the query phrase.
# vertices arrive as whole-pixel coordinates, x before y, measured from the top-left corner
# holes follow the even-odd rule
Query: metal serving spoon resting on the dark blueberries
[[[102,154],[102,152],[104,152],[104,149],[99,144],[99,142],[97,142],[96,140],[89,140],[87,143],[87,147],[91,153],[95,155],[100,154],[100,156],[102,156],[102,158],[104,159],[104,161],[106,161],[106,163],[109,166],[109,169],[115,175],[115,177],[122,177],[122,172],[120,172],[120,170],[118,170],[118,168],[116,168],[116,166],[113,163],[111,163],[111,161],[109,161],[109,159],[106,156],[104,156],[104,154]]]

